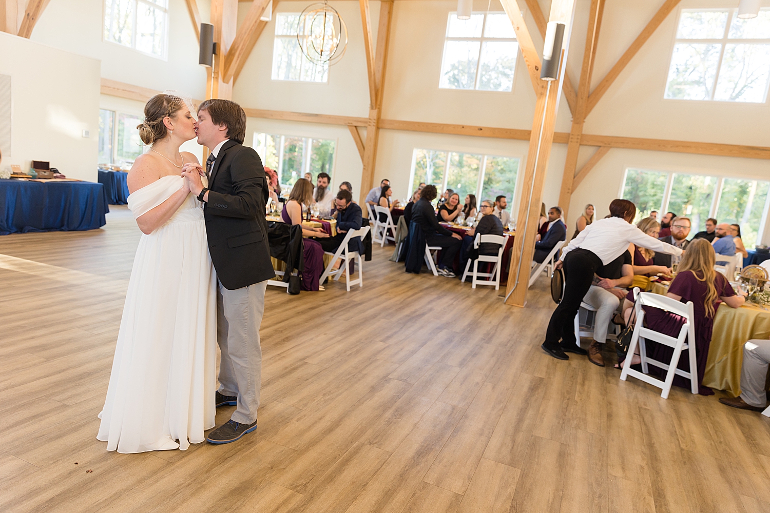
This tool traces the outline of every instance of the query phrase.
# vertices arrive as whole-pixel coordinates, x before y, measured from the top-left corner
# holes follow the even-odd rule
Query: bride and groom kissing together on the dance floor
[[[267,280],[268,186],[259,155],[243,146],[246,112],[212,99],[150,98],[139,125],[149,152],[129,171],[142,230],[97,439],[121,453],[226,444],[256,429]],[[206,167],[179,152],[211,148]],[[216,343],[222,353],[216,387]],[[237,405],[215,427],[216,407]]]

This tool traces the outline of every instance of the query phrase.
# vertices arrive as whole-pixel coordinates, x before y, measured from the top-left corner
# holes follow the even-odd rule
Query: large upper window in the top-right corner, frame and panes
[[[683,10],[665,98],[763,103],[770,77],[770,9]]]

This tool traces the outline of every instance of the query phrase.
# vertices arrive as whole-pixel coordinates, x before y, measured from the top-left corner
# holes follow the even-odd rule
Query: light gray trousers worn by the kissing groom
[[[241,424],[256,421],[259,386],[262,384],[262,346],[259,325],[265,311],[267,281],[227,290],[218,283],[216,292],[216,341],[222,352],[219,362],[219,393],[237,395],[231,417]]]

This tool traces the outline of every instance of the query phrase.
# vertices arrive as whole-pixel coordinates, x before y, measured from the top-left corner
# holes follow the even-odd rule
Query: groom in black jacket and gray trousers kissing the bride
[[[209,254],[216,269],[217,342],[222,351],[216,405],[237,405],[233,416],[206,437],[227,444],[256,429],[262,348],[259,325],[273,265],[267,243],[267,179],[259,155],[243,146],[246,112],[229,100],[206,100],[198,108],[198,143],[212,148],[205,173],[187,164],[182,176],[203,202]]]

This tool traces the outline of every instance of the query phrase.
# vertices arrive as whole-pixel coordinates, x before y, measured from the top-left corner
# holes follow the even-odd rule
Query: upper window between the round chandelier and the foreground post
[[[450,14],[440,88],[511,91],[519,44],[505,13]]]

